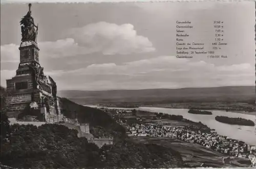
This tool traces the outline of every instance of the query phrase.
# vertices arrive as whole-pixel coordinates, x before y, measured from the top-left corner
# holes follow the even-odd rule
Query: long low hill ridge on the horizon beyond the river
[[[253,103],[255,86],[224,86],[181,89],[141,90],[62,90],[58,95],[79,104],[164,104],[188,102]]]

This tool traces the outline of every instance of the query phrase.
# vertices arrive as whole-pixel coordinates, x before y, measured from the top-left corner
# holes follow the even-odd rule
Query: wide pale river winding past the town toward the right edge
[[[97,107],[92,105],[84,105],[88,107]],[[98,107],[99,108],[99,107]],[[133,108],[114,108],[108,107],[109,109],[133,109]],[[241,117],[245,119],[251,119],[256,123],[256,116],[242,113],[226,112],[220,110],[210,110],[212,115],[202,115],[202,114],[190,114],[188,109],[168,109],[168,108],[157,108],[157,107],[139,107],[136,110],[144,110],[150,112],[162,112],[166,114],[182,115],[184,118],[189,119],[193,122],[201,122],[207,125],[211,129],[215,129],[220,135],[227,136],[229,138],[244,141],[250,145],[256,145],[256,126],[239,126],[239,125],[229,125],[220,123],[215,120],[217,115],[223,115],[228,117]]]

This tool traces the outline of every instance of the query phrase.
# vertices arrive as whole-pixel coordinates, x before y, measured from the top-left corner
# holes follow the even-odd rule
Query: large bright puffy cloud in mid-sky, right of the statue
[[[155,48],[148,38],[137,35],[131,24],[97,22],[71,31],[75,41],[104,55],[153,52]]]

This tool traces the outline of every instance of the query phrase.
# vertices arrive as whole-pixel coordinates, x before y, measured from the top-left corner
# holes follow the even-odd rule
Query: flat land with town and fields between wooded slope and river
[[[223,167],[229,164],[226,158],[230,158],[237,166],[246,166],[248,163],[247,143],[219,135],[214,129],[182,115],[135,109],[100,109],[124,126],[129,138],[138,142],[162,144],[181,152],[186,167],[200,167],[202,164],[205,167]],[[236,144],[240,145],[241,150]],[[192,154],[197,154],[197,158]],[[204,158],[207,155],[210,158]],[[204,163],[201,163],[202,158]]]

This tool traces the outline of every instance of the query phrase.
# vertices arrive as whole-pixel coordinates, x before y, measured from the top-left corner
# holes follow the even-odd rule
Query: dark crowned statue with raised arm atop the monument
[[[31,16],[31,4],[29,4],[29,11],[22,20],[20,20],[20,25],[22,26],[22,41],[35,41],[37,37],[38,24],[35,26],[34,19]],[[36,30],[35,30],[36,28]]]

